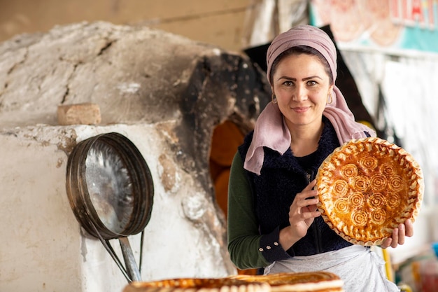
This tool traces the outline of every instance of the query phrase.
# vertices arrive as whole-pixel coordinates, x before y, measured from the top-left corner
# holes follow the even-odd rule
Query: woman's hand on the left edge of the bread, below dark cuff
[[[320,216],[318,211],[318,191],[313,190],[316,180],[309,183],[301,193],[297,193],[289,208],[290,226],[280,230],[280,243],[286,251],[306,235],[313,220]]]

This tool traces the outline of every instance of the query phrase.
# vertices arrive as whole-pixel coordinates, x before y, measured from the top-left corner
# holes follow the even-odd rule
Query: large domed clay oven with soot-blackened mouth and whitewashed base
[[[0,43],[0,290],[125,286],[66,195],[69,154],[108,132],[135,144],[153,179],[144,240],[131,238],[141,277],[235,273],[219,189],[269,92],[243,55],[148,27],[77,23]],[[98,118],[60,125],[59,106],[80,104]]]

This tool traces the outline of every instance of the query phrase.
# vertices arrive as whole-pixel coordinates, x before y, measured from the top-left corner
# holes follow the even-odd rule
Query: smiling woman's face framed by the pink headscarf
[[[284,57],[272,78],[272,91],[290,129],[319,128],[332,88],[323,63],[314,55]]]

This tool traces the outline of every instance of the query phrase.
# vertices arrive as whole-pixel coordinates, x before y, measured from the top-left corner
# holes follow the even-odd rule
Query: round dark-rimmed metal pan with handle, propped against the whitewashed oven
[[[150,169],[136,146],[115,132],[81,141],[69,155],[66,191],[79,223],[101,239],[128,281],[138,281],[127,236],[148,224],[154,189]],[[127,274],[108,243],[115,238],[120,241]]]

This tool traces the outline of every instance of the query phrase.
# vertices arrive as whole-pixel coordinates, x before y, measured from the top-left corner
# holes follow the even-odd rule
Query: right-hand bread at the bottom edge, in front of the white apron
[[[295,272],[266,275],[237,275],[236,279],[244,281],[265,282],[272,292],[341,292],[344,281],[331,272]]]

